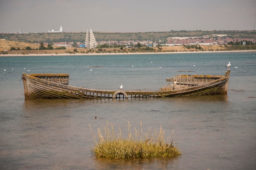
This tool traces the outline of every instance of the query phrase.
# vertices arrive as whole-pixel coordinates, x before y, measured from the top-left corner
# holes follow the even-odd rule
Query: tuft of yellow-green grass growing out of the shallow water
[[[142,125],[141,125],[142,126]],[[103,133],[102,133],[103,131]],[[113,125],[109,125],[103,129],[98,128],[98,138],[92,149],[93,155],[96,157],[106,157],[109,159],[135,159],[135,158],[151,158],[151,157],[175,157],[180,155],[180,151],[171,143],[164,141],[164,130],[160,127],[159,132],[156,130],[143,134],[142,127],[140,130],[135,128],[135,134],[132,135],[130,124],[128,122],[128,137],[121,136],[114,132]],[[170,136],[171,137],[171,136]],[[170,141],[168,137],[167,141]]]

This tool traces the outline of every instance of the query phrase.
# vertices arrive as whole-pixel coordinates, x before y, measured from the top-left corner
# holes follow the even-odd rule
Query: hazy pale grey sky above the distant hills
[[[256,0],[0,0],[0,32],[254,30]]]

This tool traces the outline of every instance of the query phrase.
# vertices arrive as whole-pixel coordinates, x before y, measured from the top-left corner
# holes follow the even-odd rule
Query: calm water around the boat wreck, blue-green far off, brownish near
[[[70,73],[72,86],[159,90],[176,74],[224,75],[228,62],[227,95],[25,100],[21,80],[23,72]],[[144,132],[162,126],[182,155],[97,159],[94,135],[107,121],[124,136],[128,122]],[[256,53],[0,57],[0,169],[255,170]]]

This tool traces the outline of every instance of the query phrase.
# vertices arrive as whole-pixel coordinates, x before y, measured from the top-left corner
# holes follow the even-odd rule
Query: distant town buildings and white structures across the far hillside
[[[223,31],[222,31],[223,32]],[[47,33],[64,33],[62,26],[58,29],[58,31],[54,31],[52,28],[51,31],[47,31]],[[0,35],[6,34],[29,34],[29,33],[21,33],[20,30],[16,32],[2,32]],[[87,33],[88,34],[88,33]],[[255,34],[255,31],[254,31]],[[73,46],[73,47],[86,47],[86,40],[69,40],[65,38],[65,41],[52,41],[51,44],[55,46]],[[102,39],[102,38],[100,38]],[[151,38],[152,39],[152,38]],[[156,39],[156,38],[155,38]],[[157,40],[134,40],[129,38],[128,40],[115,40],[114,38],[109,38],[109,40],[97,40],[97,35],[95,35],[94,41],[96,40],[96,44],[94,44],[94,48],[96,46],[101,45],[112,45],[112,46],[126,46],[126,48],[134,47],[136,44],[140,43],[143,46],[155,47],[159,46],[182,46],[182,45],[255,45],[256,39],[252,38],[234,38],[229,34],[210,34],[210,35],[202,35],[202,36],[168,36],[168,37],[159,37]],[[87,40],[88,41],[88,40]],[[38,42],[34,42],[35,44]],[[89,42],[88,42],[89,43]],[[44,44],[49,44],[44,41]],[[88,44],[87,44],[88,46]],[[92,44],[91,44],[92,46]],[[90,47],[92,48],[92,47]]]

